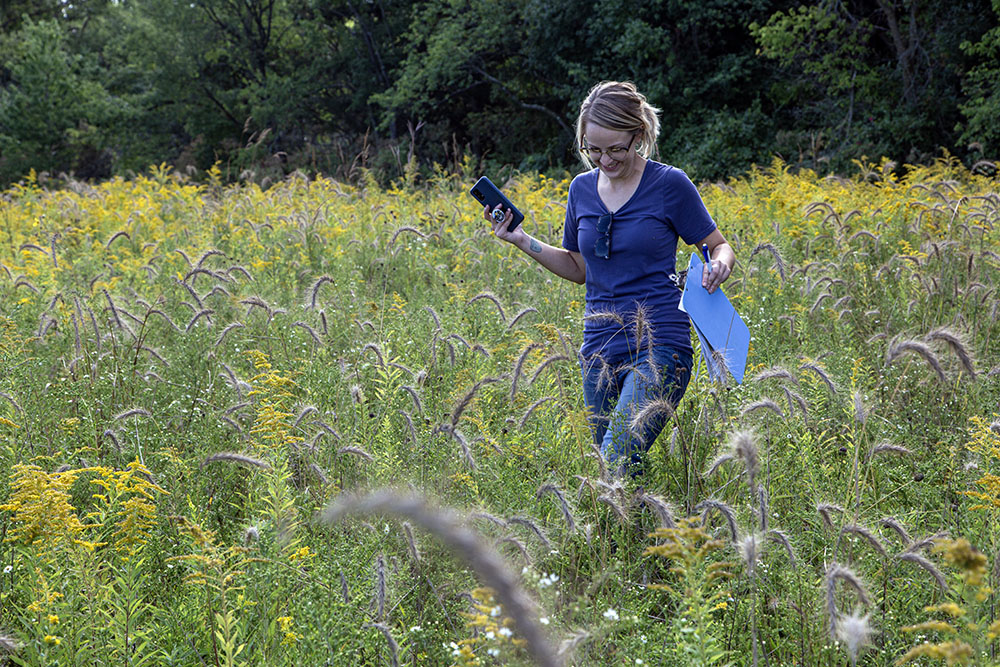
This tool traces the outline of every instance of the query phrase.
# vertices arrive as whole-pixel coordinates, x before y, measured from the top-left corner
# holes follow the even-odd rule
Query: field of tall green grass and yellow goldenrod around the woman
[[[1000,664],[998,182],[857,166],[701,187],[747,380],[635,481],[472,170],[4,192],[0,664]]]

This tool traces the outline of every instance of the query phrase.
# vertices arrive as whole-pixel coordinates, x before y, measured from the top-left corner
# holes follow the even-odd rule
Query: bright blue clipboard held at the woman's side
[[[742,384],[747,353],[750,351],[750,329],[721,288],[709,294],[701,286],[702,271],[704,263],[698,253],[691,253],[680,309],[691,318],[691,324],[698,334],[709,378],[722,380],[725,370],[737,384]],[[724,360],[722,364],[716,362],[713,352],[721,355]]]

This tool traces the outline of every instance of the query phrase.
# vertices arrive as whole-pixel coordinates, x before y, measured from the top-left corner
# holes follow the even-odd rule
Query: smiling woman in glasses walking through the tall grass
[[[642,472],[642,455],[667,421],[648,420],[633,432],[632,417],[651,400],[676,406],[687,388],[693,353],[687,314],[678,309],[677,239],[708,246],[701,281],[709,292],[736,263],[687,175],[650,159],[658,113],[632,83],[591,89],[576,122],[589,171],[570,184],[562,248],[523,226],[508,232],[510,211],[501,222],[484,211],[498,238],[557,276],[586,284],[584,396],[595,442],[620,475]]]

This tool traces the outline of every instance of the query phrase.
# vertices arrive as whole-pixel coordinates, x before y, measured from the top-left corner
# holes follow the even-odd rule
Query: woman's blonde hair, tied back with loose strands
[[[584,128],[594,123],[609,130],[638,134],[637,151],[648,158],[658,155],[656,137],[660,134],[660,110],[646,101],[631,81],[602,81],[587,93],[576,119],[576,144],[583,146]],[[581,153],[584,164],[593,166]]]

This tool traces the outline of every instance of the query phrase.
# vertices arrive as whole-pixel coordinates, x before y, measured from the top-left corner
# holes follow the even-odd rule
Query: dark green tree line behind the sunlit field
[[[1000,155],[1000,0],[0,0],[0,184],[562,170],[591,85],[697,179]]]

